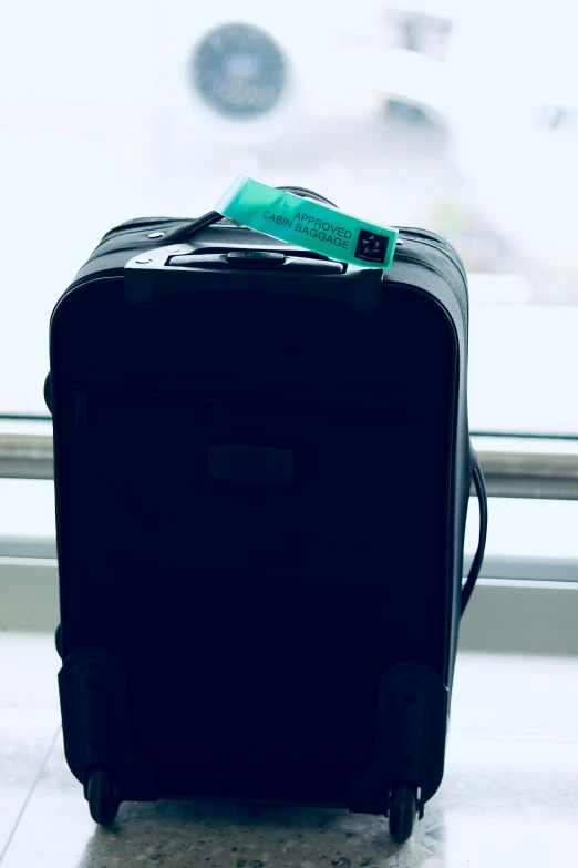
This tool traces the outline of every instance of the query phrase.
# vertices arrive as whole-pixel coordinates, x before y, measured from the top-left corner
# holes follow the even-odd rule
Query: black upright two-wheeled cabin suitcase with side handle
[[[64,744],[97,823],[198,797],[411,835],[485,543],[467,319],[460,257],[423,229],[389,272],[214,212],[104,236],[47,380]]]

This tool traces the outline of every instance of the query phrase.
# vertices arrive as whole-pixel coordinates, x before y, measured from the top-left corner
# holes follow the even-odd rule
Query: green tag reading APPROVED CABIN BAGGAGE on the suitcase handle
[[[225,217],[273,238],[365,268],[391,268],[398,229],[301,198],[238,173],[215,205]]]

